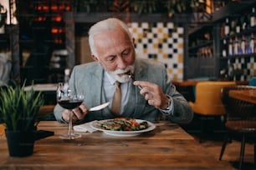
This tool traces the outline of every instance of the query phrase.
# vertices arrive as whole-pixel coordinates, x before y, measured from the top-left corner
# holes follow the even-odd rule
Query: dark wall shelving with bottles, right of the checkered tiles
[[[212,21],[210,23],[197,23],[197,29],[192,28],[194,24],[188,26],[190,32],[187,32],[188,42],[185,66],[187,70],[185,70],[186,75],[184,77],[222,78],[223,70],[228,72],[230,65],[242,69],[243,76],[241,80],[248,80],[252,77],[255,70],[248,67],[248,63],[251,65],[251,63],[256,60],[256,52],[255,50],[254,52],[252,52],[252,50],[241,52],[240,48],[243,36],[248,46],[252,32],[254,35],[254,46],[256,44],[256,28],[255,26],[250,26],[251,16],[255,18],[252,7],[256,8],[255,1],[228,2],[212,13]],[[228,18],[228,22],[226,22],[226,18]],[[247,20],[245,22],[248,23],[247,27],[244,27],[244,20]],[[229,26],[228,33],[225,33],[226,23]],[[237,27],[237,25],[239,27]],[[208,39],[208,41],[197,43],[197,38],[203,35],[203,31],[207,30],[207,28],[209,28],[210,31],[208,32],[211,32],[212,37]],[[232,39],[232,42],[230,39]],[[238,50],[236,50],[235,53],[232,52],[232,54],[228,54],[228,46],[232,48],[232,51],[234,51],[233,47],[237,47]],[[213,49],[212,55],[209,55],[209,57],[206,57],[207,55],[200,55],[200,51],[205,47]],[[224,48],[226,49],[225,52],[223,52]],[[192,69],[190,65],[193,65],[196,69]]]

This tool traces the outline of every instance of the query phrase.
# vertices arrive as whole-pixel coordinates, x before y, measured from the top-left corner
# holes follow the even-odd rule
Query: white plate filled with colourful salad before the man
[[[90,127],[119,137],[136,136],[156,128],[152,122],[124,117],[91,122]]]

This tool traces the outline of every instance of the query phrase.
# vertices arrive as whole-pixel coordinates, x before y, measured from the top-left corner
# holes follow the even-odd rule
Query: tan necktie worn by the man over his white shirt
[[[115,115],[120,114],[121,90],[120,82],[115,82],[115,92],[112,101],[111,112]]]

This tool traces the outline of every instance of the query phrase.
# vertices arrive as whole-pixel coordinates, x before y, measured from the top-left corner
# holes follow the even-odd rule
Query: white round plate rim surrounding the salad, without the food
[[[146,129],[140,130],[140,131],[111,131],[111,130],[105,130],[105,129],[100,128],[100,124],[102,122],[106,122],[106,121],[110,121],[110,120],[113,120],[113,119],[90,122],[90,127],[94,128],[95,130],[102,131],[105,134],[117,136],[117,137],[133,137],[133,136],[137,136],[141,133],[149,132],[156,128],[154,123],[148,122],[148,121],[146,121],[146,122],[148,123],[149,127]],[[145,120],[136,119],[136,122],[144,122],[144,121]]]

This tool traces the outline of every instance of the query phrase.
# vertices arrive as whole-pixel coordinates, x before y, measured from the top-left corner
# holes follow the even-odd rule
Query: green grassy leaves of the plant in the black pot
[[[23,86],[6,86],[0,93],[0,117],[7,130],[29,131],[36,128],[38,112],[44,105],[41,92],[33,88],[25,91]]]

